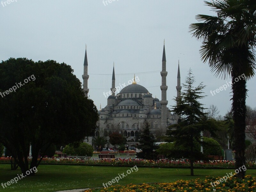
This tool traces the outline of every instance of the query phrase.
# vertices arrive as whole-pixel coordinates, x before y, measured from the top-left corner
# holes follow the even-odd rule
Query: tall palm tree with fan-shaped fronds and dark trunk
[[[217,16],[197,15],[200,23],[190,25],[190,32],[202,40],[201,59],[209,63],[211,71],[219,78],[232,78],[232,115],[235,122],[234,142],[236,169],[245,164],[246,81],[254,76],[256,34],[252,0],[216,0],[204,3]],[[243,78],[241,78],[243,77]],[[241,171],[238,177],[244,177]]]

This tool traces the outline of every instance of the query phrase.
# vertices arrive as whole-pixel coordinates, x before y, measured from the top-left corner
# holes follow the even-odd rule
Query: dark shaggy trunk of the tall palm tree
[[[232,112],[233,112],[233,120],[235,122],[234,127],[234,141],[235,141],[235,168],[238,169],[245,165],[245,117],[246,117],[246,80],[238,79],[239,75],[232,76],[232,89],[233,89],[233,103],[232,103]],[[241,76],[241,74],[240,74]],[[236,81],[235,81],[236,80]],[[236,176],[240,178],[244,178],[245,171],[240,168]]]

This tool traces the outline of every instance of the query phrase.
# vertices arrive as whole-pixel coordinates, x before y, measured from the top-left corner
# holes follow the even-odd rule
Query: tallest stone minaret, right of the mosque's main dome
[[[160,86],[162,92],[162,100],[160,101],[161,107],[161,130],[163,133],[166,133],[166,125],[167,125],[167,107],[168,101],[166,100],[166,91],[168,86],[166,86],[166,58],[165,58],[165,47],[163,50],[163,59],[162,59],[162,71],[160,72],[162,76],[162,85]]]

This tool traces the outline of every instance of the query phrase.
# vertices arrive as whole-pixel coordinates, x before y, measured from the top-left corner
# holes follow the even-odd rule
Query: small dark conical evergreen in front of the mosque
[[[156,152],[154,152],[154,149],[156,148],[156,146],[154,146],[156,139],[154,138],[154,135],[150,132],[149,127],[150,125],[146,123],[140,134],[139,147],[142,151],[140,153],[137,153],[137,156],[143,159],[156,159]]]

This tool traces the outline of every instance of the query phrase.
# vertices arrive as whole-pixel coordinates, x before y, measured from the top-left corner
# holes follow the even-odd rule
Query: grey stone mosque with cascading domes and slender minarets
[[[98,111],[99,121],[95,136],[108,137],[113,132],[119,132],[130,143],[135,142],[139,134],[139,130],[143,129],[146,123],[150,125],[150,131],[155,136],[163,136],[166,133],[166,127],[170,124],[176,124],[178,116],[172,114],[167,108],[168,100],[166,98],[166,58],[165,47],[163,49],[162,85],[160,86],[162,98],[161,100],[152,97],[152,93],[134,80],[132,84],[125,86],[120,92],[115,94],[115,68],[113,67],[112,86],[110,88],[112,95],[108,96],[107,106]],[[85,96],[88,96],[88,61],[85,49],[84,57],[84,75],[83,89]],[[180,97],[180,66],[178,65],[177,76],[177,98]]]

